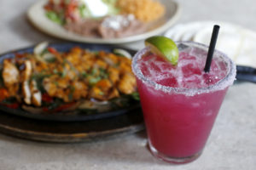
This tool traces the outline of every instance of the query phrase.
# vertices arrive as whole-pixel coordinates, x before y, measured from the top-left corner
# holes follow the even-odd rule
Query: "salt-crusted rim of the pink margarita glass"
[[[177,46],[179,45],[185,45],[193,48],[200,48],[205,51],[208,51],[208,46],[199,42],[191,42],[191,41],[186,41],[186,42],[175,42]],[[134,55],[132,59],[132,71],[134,72],[135,76],[143,81],[143,83],[146,83],[146,85],[151,86],[152,88],[156,90],[163,91],[164,93],[175,93],[175,94],[185,94],[188,96],[193,96],[195,94],[204,94],[204,93],[210,93],[218,90],[223,90],[224,88],[230,86],[233,84],[234,80],[236,79],[236,65],[235,63],[224,53],[214,50],[214,55],[213,57],[221,57],[224,62],[227,64],[227,71],[228,73],[226,76],[221,79],[220,81],[216,82],[215,84],[212,84],[208,87],[205,88],[172,88],[172,87],[167,87],[164,85],[161,85],[160,83],[154,82],[148,77],[145,77],[143,75],[143,72],[140,70],[140,68],[137,65],[137,60],[141,59],[144,54],[147,54],[149,51],[149,48],[143,48],[142,50],[139,50],[137,54]]]

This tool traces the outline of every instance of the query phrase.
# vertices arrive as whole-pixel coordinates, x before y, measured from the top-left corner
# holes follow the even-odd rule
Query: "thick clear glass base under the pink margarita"
[[[160,153],[158,150],[154,148],[154,146],[148,142],[149,150],[153,154],[153,156],[159,158],[162,161],[167,161],[169,163],[173,164],[183,164],[183,163],[189,163],[190,161],[195,161],[199,156],[201,156],[201,151],[196,153],[193,156],[186,156],[186,157],[172,157],[172,156],[166,156],[165,154]]]

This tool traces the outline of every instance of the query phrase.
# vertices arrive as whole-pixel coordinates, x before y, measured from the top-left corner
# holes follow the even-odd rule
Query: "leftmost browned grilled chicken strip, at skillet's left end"
[[[8,59],[3,61],[3,82],[10,96],[15,96],[19,90],[19,70]]]

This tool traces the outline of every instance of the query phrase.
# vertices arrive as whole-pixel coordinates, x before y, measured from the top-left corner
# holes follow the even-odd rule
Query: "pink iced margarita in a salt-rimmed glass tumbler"
[[[205,73],[207,47],[178,42],[179,59],[172,65],[149,48],[139,51],[132,69],[147,127],[149,148],[165,161],[188,162],[200,156],[229,86],[234,63],[215,51]]]

